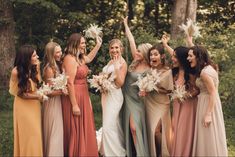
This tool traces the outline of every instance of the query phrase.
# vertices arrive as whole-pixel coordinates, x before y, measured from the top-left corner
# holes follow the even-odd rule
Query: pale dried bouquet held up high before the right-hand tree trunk
[[[199,27],[197,26],[196,23],[193,23],[193,21],[191,19],[188,19],[187,22],[186,22],[186,25],[185,24],[181,24],[180,26],[180,29],[182,29],[186,35],[189,35],[189,36],[194,36],[194,37],[200,37],[200,32],[199,32]]]

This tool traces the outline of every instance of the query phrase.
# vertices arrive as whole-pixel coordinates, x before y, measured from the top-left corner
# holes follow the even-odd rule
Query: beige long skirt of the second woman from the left
[[[63,156],[63,117],[61,97],[53,96],[43,103],[44,156]]]

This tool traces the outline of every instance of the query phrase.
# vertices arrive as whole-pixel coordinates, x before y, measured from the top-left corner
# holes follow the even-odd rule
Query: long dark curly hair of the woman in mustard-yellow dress
[[[30,89],[29,79],[31,78],[37,86],[39,86],[39,80],[37,78],[37,65],[31,64],[31,57],[35,49],[31,45],[23,45],[16,53],[14,67],[17,69],[18,77],[18,95],[22,95]]]

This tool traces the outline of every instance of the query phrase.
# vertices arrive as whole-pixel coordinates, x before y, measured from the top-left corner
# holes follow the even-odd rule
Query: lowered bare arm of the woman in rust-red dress
[[[76,62],[76,59],[73,56],[67,55],[64,58],[63,68],[65,70],[65,74],[68,76],[68,84],[67,84],[68,94],[69,94],[69,99],[73,108],[74,115],[80,115],[80,109],[77,104],[75,91],[74,91],[74,79],[75,79],[76,72],[77,72],[77,66],[78,64]]]

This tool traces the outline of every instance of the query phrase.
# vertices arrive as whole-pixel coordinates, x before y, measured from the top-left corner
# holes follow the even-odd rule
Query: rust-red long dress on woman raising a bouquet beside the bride
[[[62,96],[64,156],[98,156],[94,115],[87,85],[88,67],[77,67],[74,91],[81,114],[74,116],[69,96]]]

